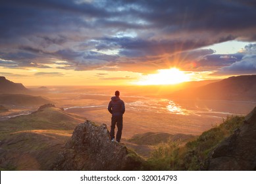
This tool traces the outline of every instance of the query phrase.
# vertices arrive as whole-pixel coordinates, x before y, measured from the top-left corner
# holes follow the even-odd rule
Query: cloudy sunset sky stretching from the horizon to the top
[[[255,19],[253,0],[2,0],[0,76],[134,85],[171,81],[173,68],[188,80],[256,74]]]

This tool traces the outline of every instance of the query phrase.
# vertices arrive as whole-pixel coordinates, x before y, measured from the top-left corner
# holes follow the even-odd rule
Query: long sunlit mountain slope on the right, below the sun
[[[256,101],[256,75],[230,77],[201,87],[176,91],[170,96],[182,99]]]

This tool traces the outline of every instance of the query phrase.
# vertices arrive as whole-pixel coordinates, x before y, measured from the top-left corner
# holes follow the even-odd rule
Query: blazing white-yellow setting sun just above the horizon
[[[157,74],[149,74],[136,82],[138,85],[168,85],[190,81],[190,76],[178,68],[157,70]]]

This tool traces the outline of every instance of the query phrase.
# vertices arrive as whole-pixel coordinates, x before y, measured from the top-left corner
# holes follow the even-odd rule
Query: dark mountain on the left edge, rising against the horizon
[[[14,83],[0,76],[0,94],[2,93],[28,93],[29,90],[22,83]]]

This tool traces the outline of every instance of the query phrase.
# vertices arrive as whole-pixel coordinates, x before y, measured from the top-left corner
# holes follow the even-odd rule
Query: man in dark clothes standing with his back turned
[[[117,126],[116,142],[120,142],[122,136],[122,114],[124,114],[125,107],[124,101],[119,98],[120,92],[115,92],[115,97],[111,98],[109,102],[108,110],[112,114],[111,118],[111,141],[115,141],[115,126]]]

